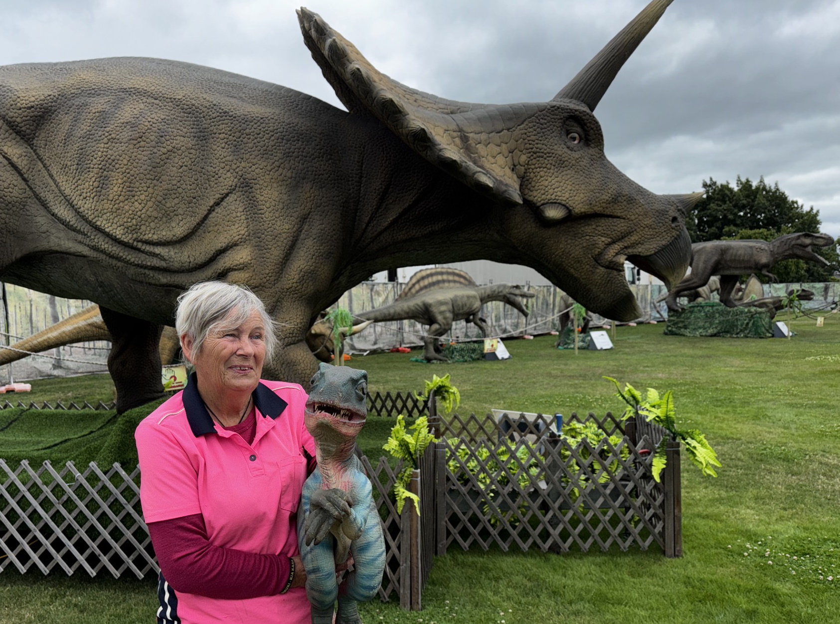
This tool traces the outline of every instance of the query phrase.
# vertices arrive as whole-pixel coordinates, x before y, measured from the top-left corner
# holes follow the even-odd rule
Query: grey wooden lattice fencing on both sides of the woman
[[[417,399],[413,409],[422,404]],[[383,413],[406,406],[380,405]],[[420,458],[411,482],[422,516],[410,503],[398,514],[391,500],[402,464],[391,468],[380,457],[373,466],[360,456],[386,538],[382,600],[396,593],[403,608],[420,609],[433,555],[453,545],[587,552],[656,542],[666,556],[682,555],[678,444],[669,445],[662,482],[651,473],[660,427],[610,413],[573,414],[570,421],[594,423],[619,440],[571,446],[551,433],[552,416],[441,418],[434,404],[431,412],[441,439]],[[119,464],[103,472],[95,463],[80,471],[72,462],[34,468],[24,461],[13,469],[0,459],[0,572],[13,566],[22,574],[30,568],[43,574],[81,568],[91,576],[104,569],[115,578],[156,574],[138,484],[139,471],[128,474]]]

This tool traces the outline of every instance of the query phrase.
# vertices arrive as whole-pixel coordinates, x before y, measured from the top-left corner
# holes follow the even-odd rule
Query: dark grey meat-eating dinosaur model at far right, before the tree
[[[776,276],[770,268],[780,260],[798,258],[817,262],[823,267],[831,263],[811,251],[811,246],[827,247],[834,244],[834,239],[827,234],[797,232],[781,235],[774,241],[705,241],[691,246],[691,273],[676,288],[669,288],[665,302],[668,309],[683,309],[677,298],[685,291],[701,288],[712,275],[721,276],[721,303],[729,308],[738,305],[732,299],[732,293],[738,284],[738,276],[751,272],[761,272],[774,282]]]

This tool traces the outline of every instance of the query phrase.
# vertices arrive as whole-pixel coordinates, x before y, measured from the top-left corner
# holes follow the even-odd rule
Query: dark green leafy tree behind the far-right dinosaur
[[[805,209],[788,197],[779,182],[769,186],[764,177],[753,183],[738,176],[733,188],[729,182],[703,181],[706,197],[685,219],[692,242],[717,240],[772,241],[791,232],[819,232],[820,211]],[[840,267],[837,247],[815,248],[817,254],[832,263],[832,268],[819,267],[803,260],[784,260],[771,269],[780,282],[827,282]],[[763,276],[759,278],[764,279]]]

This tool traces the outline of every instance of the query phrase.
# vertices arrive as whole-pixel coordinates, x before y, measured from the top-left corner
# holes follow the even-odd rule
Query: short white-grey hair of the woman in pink
[[[260,314],[265,327],[265,357],[270,360],[277,345],[277,324],[247,286],[224,282],[193,284],[178,297],[175,330],[179,340],[185,334],[192,338],[192,351],[198,353],[211,331],[234,330],[254,312]]]

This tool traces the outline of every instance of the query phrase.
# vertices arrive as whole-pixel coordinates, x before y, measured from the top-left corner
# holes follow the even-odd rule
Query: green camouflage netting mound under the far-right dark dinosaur
[[[688,304],[682,312],[669,312],[668,336],[720,336],[722,338],[772,338],[773,320],[768,310],[727,308],[718,301]]]

